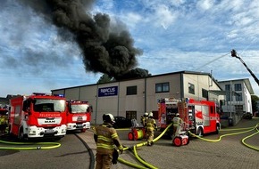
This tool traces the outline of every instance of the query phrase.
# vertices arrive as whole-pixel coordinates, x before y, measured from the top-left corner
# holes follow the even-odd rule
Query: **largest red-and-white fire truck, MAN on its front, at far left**
[[[19,139],[60,140],[66,134],[66,101],[62,96],[17,96],[10,100],[10,106],[9,133]]]

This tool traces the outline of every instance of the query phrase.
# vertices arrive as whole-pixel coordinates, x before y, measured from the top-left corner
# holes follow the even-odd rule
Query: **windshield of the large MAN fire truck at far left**
[[[65,110],[64,100],[35,99],[33,109],[38,112],[61,112]]]

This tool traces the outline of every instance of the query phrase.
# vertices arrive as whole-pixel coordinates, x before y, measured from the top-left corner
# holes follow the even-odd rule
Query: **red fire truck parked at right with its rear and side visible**
[[[221,129],[220,109],[214,101],[184,101],[164,98],[158,101],[158,127],[164,130],[176,113],[184,121],[184,130],[196,135],[219,133]],[[169,133],[171,133],[169,131]]]

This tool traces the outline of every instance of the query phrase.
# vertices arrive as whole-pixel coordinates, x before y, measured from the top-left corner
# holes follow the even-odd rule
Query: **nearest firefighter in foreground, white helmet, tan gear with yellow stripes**
[[[94,128],[94,139],[96,141],[96,169],[109,169],[117,163],[118,151],[123,152],[118,133],[113,128],[114,117],[112,114],[103,115],[104,123]]]

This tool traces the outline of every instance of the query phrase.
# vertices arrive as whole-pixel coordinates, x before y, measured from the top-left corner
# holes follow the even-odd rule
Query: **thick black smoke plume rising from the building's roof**
[[[134,40],[129,32],[116,26],[112,28],[107,14],[90,14],[94,0],[21,1],[60,28],[59,35],[64,39],[69,39],[65,32],[71,32],[72,40],[83,52],[87,72],[101,72],[116,80],[150,76],[146,69],[136,68],[136,56],[142,51],[133,46]]]

